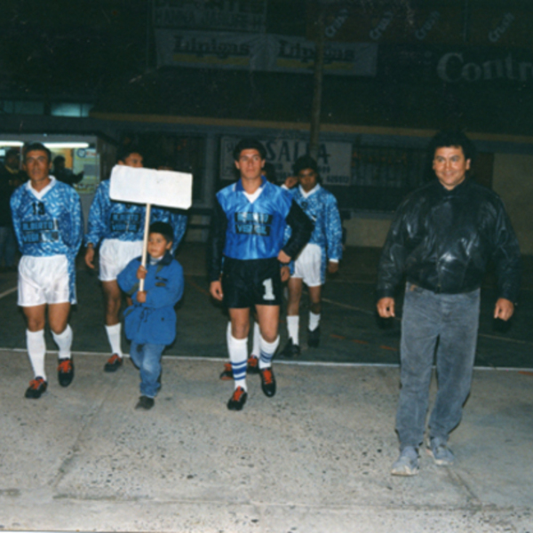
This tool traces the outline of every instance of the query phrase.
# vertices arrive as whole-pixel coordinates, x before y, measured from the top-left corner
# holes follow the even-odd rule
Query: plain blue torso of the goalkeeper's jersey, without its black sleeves
[[[292,198],[288,191],[264,178],[260,188],[254,202],[244,194],[240,179],[217,194],[227,217],[223,253],[228,258],[271,259],[282,250]]]

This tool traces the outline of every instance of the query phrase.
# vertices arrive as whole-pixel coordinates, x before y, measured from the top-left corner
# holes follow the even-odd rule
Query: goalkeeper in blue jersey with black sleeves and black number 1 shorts
[[[272,358],[279,345],[281,269],[298,255],[313,231],[313,223],[290,193],[262,176],[265,157],[265,147],[256,139],[236,145],[235,167],[241,177],[219,191],[212,218],[210,292],[225,303],[231,319],[227,343],[235,391],[227,402],[229,410],[242,410],[247,399],[247,341],[254,306],[261,332],[261,389],[267,397],[275,394]],[[287,225],[292,234],[283,245]]]

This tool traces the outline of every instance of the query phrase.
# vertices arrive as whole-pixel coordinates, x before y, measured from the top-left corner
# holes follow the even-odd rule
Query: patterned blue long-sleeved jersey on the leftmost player
[[[70,302],[76,303],[74,263],[84,235],[80,197],[74,188],[50,179],[42,196],[29,181],[12,194],[13,228],[22,255],[67,256]]]

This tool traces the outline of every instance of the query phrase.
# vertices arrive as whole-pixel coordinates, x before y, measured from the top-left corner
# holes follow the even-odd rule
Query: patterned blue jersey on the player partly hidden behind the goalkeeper
[[[322,283],[326,281],[327,259],[342,259],[342,223],[338,213],[337,199],[325,188],[317,185],[310,195],[304,196],[301,187],[290,189],[296,203],[314,221],[310,244],[318,244],[322,250]],[[285,240],[290,237],[290,227],[285,231]],[[290,264],[291,274],[294,263]]]

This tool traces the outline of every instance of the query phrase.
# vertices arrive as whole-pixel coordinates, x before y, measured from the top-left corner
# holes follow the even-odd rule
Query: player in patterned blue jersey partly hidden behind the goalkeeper
[[[299,304],[303,284],[309,289],[310,310],[307,327],[307,346],[317,347],[320,342],[321,294],[326,281],[326,266],[330,274],[338,271],[342,258],[342,225],[334,195],[318,183],[318,165],[313,157],[304,155],[294,163],[294,175],[299,186],[290,189],[296,203],[314,221],[314,231],[309,243],[290,264],[289,305],[287,329],[289,341],[282,350],[284,357],[300,353]],[[289,185],[289,183],[287,183]],[[287,236],[290,235],[290,228]]]

